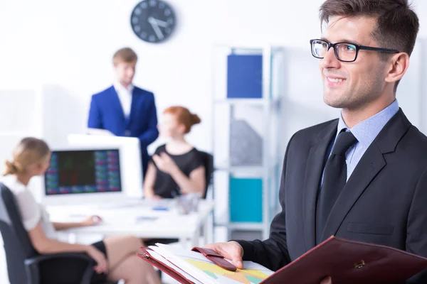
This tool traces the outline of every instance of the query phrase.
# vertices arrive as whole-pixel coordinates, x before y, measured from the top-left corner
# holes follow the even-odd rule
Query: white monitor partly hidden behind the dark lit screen
[[[122,192],[127,198],[142,199],[142,162],[139,139],[135,137],[69,134],[73,147],[119,148]]]

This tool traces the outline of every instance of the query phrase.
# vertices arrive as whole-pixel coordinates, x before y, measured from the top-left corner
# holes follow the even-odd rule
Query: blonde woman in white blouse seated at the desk
[[[46,209],[38,204],[28,187],[28,182],[43,175],[49,168],[51,151],[43,140],[23,138],[13,152],[13,160],[6,161],[6,170],[1,182],[14,193],[21,212],[22,222],[29,239],[38,253],[78,252],[87,253],[96,262],[93,283],[105,280],[125,279],[126,284],[158,284],[159,276],[152,266],[141,261],[136,253],[144,246],[135,236],[107,237],[92,245],[68,244],[56,240],[56,231],[76,226],[92,226],[100,219],[88,217],[78,223],[50,222]],[[67,265],[67,263],[65,263]],[[73,270],[75,263],[69,263]],[[41,271],[42,283],[58,283],[55,271]]]

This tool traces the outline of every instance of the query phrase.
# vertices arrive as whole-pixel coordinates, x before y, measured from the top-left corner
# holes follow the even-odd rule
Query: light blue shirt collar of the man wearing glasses
[[[386,123],[394,116],[394,114],[399,111],[399,103],[397,99],[392,102],[389,107],[386,107],[378,114],[365,119],[359,124],[355,125],[350,129],[354,137],[357,138],[357,141],[362,144],[364,147],[371,145],[375,137],[378,135],[379,131],[383,129]],[[339,116],[337,136],[342,131],[342,129],[349,129],[342,119],[342,115]],[[336,138],[336,137],[335,137]]]

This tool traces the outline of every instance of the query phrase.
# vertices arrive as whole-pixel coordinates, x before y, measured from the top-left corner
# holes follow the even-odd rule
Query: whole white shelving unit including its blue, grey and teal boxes
[[[278,131],[284,89],[283,80],[280,80],[284,76],[284,49],[218,45],[214,47],[213,54],[215,226],[225,229],[228,239],[233,231],[257,231],[262,239],[267,239],[270,222],[278,212],[281,163]],[[255,81],[245,82],[246,66],[237,66],[243,73],[238,73],[238,77],[243,79],[231,90],[228,84],[236,74],[230,65],[231,57],[239,55],[242,55],[238,58],[239,64],[245,63],[248,55],[251,61],[248,61],[248,68],[254,73],[247,77],[255,78]],[[251,65],[254,59],[258,60],[258,65]],[[262,78],[260,82],[256,82],[257,76]],[[239,86],[244,89],[246,83],[253,89],[259,87],[259,93],[248,89],[251,97],[236,94],[236,89]],[[246,130],[239,132],[239,127]],[[245,148],[248,150],[243,151]],[[239,157],[236,158],[233,149],[240,153],[243,151],[240,157],[243,163],[238,163]]]

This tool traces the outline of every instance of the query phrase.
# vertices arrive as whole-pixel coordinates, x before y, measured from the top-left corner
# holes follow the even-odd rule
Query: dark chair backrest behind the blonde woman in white
[[[24,261],[38,253],[23,227],[14,194],[2,183],[0,183],[0,232],[3,237],[10,283],[27,283]]]

